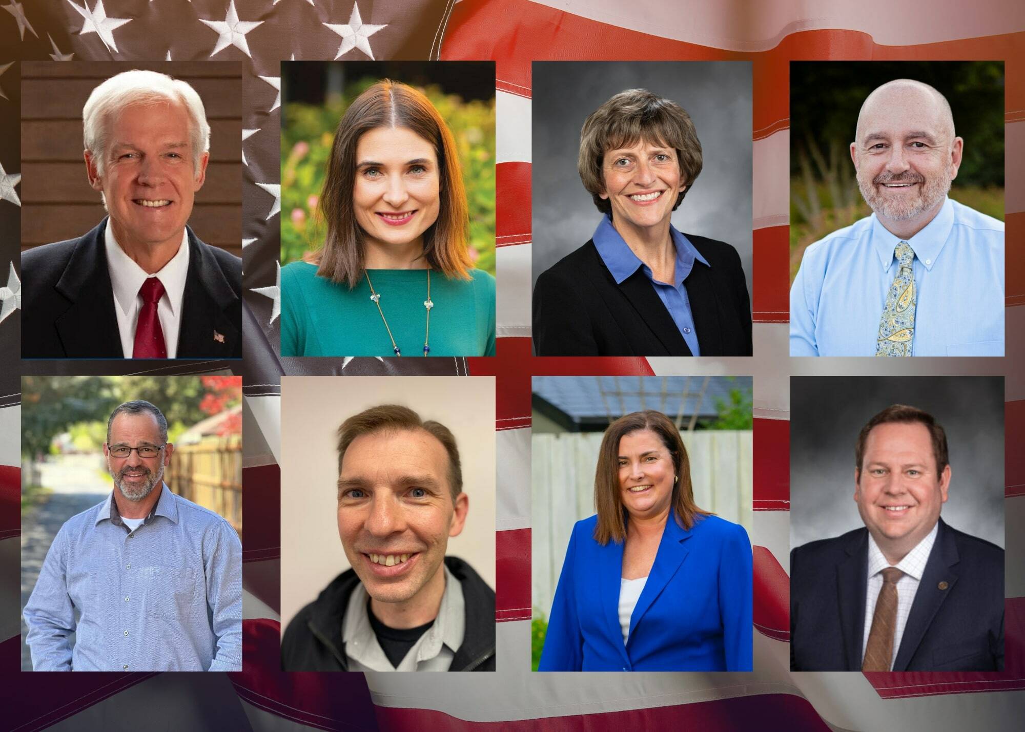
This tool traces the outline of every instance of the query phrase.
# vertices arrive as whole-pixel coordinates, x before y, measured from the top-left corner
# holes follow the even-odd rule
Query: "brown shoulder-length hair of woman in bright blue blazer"
[[[672,420],[648,409],[619,417],[605,431],[602,447],[598,451],[598,470],[594,473],[594,509],[598,524],[594,526],[594,540],[605,545],[610,540],[626,539],[626,509],[619,497],[619,441],[624,435],[640,430],[651,430],[658,435],[665,449],[672,456],[672,467],[679,480],[672,484],[672,512],[676,523],[685,529],[694,525],[695,517],[709,516],[694,503],[694,489],[691,486],[691,461],[687,448],[680,437],[680,431]]]

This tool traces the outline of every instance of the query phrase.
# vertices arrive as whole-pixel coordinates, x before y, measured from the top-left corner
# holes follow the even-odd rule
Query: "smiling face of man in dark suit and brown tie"
[[[868,433],[854,499],[862,521],[892,564],[914,548],[940,518],[950,465],[937,472],[929,429],[886,422]]]

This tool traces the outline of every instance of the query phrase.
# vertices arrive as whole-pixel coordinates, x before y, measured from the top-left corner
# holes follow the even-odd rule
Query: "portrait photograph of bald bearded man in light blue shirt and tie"
[[[790,63],[790,356],[1003,356],[1003,62]]]

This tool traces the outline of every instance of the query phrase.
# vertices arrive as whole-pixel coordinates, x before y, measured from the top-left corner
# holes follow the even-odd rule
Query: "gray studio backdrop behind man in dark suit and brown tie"
[[[950,526],[1003,546],[1002,376],[790,378],[790,547],[864,524],[854,502],[854,443],[891,404],[943,425],[950,454]]]

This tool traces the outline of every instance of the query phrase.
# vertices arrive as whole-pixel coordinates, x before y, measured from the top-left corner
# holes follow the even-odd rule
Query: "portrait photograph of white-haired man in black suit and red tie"
[[[22,356],[242,358],[242,67],[22,65]]]

